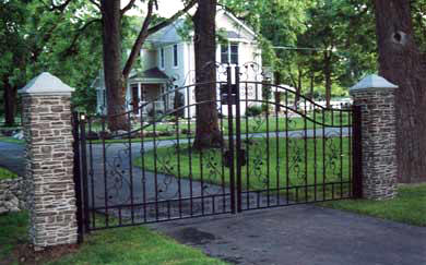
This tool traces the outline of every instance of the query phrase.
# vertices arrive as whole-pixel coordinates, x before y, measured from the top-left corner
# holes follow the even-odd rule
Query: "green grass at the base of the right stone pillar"
[[[426,227],[426,183],[403,184],[398,196],[388,201],[348,200],[321,206]]]

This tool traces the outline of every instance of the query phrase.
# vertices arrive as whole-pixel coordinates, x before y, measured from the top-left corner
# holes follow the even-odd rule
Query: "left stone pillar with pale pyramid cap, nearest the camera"
[[[73,88],[42,73],[22,95],[26,142],[25,184],[35,250],[73,244],[78,239],[73,181],[71,93]]]

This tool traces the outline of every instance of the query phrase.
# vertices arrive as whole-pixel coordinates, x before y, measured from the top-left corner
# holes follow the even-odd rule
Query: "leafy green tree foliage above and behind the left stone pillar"
[[[76,11],[79,17],[74,16]],[[78,95],[91,94],[82,87],[90,86],[99,58],[98,35],[86,35],[96,26],[92,11],[79,0],[57,4],[31,0],[0,3],[0,87],[5,125],[14,123],[17,89],[42,71],[76,87]]]

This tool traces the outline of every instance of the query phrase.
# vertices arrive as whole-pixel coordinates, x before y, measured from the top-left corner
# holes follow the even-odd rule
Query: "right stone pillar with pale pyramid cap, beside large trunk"
[[[362,111],[363,197],[392,198],[397,194],[395,89],[369,75],[350,89]]]

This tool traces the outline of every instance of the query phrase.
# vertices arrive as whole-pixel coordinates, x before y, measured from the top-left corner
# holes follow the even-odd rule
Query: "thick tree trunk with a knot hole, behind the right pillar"
[[[426,180],[426,62],[413,36],[410,1],[375,0],[379,72],[397,89],[401,182]]]

